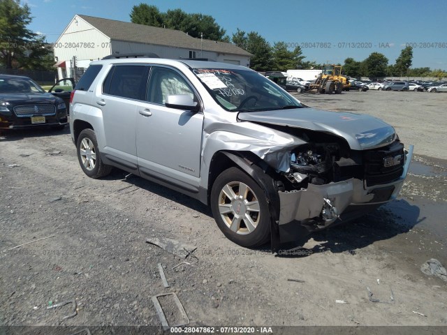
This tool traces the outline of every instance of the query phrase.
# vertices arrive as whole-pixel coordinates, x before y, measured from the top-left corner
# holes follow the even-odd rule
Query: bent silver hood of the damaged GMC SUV
[[[350,112],[329,112],[316,108],[240,112],[243,121],[323,131],[343,137],[353,150],[383,147],[396,139],[392,126],[375,117]]]

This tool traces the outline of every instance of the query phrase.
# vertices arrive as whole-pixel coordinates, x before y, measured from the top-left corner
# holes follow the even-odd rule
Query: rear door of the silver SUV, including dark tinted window
[[[130,172],[138,172],[135,144],[137,105],[144,101],[150,66],[115,65],[97,92],[96,105],[102,110],[105,147],[110,161]]]

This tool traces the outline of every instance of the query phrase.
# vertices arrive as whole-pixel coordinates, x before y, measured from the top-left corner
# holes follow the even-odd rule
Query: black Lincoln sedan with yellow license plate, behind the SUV
[[[29,77],[0,75],[0,129],[67,124],[64,100],[45,92]]]

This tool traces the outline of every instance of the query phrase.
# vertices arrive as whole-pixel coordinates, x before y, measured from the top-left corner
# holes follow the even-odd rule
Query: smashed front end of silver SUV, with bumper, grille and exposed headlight
[[[324,136],[323,136],[324,137]],[[272,230],[280,243],[349,221],[397,197],[413,146],[396,140],[385,147],[353,150],[336,137],[291,151],[288,172],[277,180],[279,218]]]

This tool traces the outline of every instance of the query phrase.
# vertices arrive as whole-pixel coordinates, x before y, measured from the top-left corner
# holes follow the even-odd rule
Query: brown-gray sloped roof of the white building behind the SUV
[[[252,56],[237,45],[214,40],[200,40],[183,31],[135,24],[117,20],[103,19],[87,15],[78,15],[93,27],[101,31],[111,40],[124,40],[126,42],[166,45],[168,47],[182,47],[190,50],[204,50],[223,54],[238,54]]]

